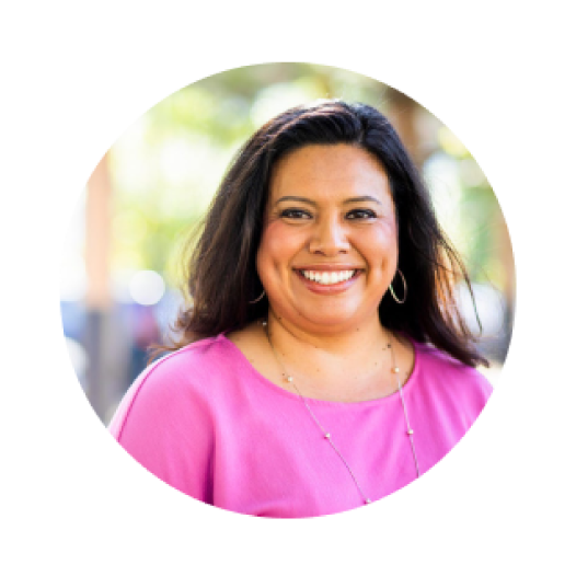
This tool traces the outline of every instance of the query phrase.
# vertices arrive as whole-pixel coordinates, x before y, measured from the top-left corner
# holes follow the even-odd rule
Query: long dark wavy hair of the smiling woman
[[[270,171],[279,158],[308,145],[348,143],[372,153],[389,177],[399,227],[399,268],[407,298],[395,303],[387,290],[379,315],[383,326],[429,343],[461,362],[489,366],[456,301],[456,285],[464,280],[475,301],[465,267],[442,232],[430,195],[396,131],[380,112],[339,100],[297,106],[260,128],[240,149],[200,222],[200,238],[187,247],[185,303],[172,326],[180,339],[152,345],[149,359],[195,341],[239,330],[266,314],[268,301],[255,304],[263,286],[256,251],[268,195]],[[396,277],[398,278],[398,275]],[[395,293],[403,293],[400,278]],[[476,312],[476,319],[477,312]]]

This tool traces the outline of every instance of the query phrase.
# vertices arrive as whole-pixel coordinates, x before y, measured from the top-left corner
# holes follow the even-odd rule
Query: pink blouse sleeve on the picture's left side
[[[158,360],[126,392],[107,430],[152,476],[210,506],[212,425],[194,377],[201,375],[192,375],[184,356]]]

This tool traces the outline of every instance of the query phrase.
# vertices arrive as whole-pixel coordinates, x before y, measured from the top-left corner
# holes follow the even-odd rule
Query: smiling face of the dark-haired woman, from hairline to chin
[[[283,323],[326,334],[375,322],[396,262],[394,204],[376,158],[336,145],[278,161],[256,267]]]

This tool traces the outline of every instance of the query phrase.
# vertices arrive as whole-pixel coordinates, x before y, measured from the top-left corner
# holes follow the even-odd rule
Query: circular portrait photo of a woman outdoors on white
[[[60,321],[131,482],[315,519],[440,474],[516,316],[507,219],[464,141],[309,61],[215,72],[127,124],[70,218]]]

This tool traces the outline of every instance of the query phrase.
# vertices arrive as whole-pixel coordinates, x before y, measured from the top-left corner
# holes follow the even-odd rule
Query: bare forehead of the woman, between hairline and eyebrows
[[[306,146],[273,168],[269,199],[284,194],[366,195],[391,200],[385,170],[370,152],[350,145]]]

